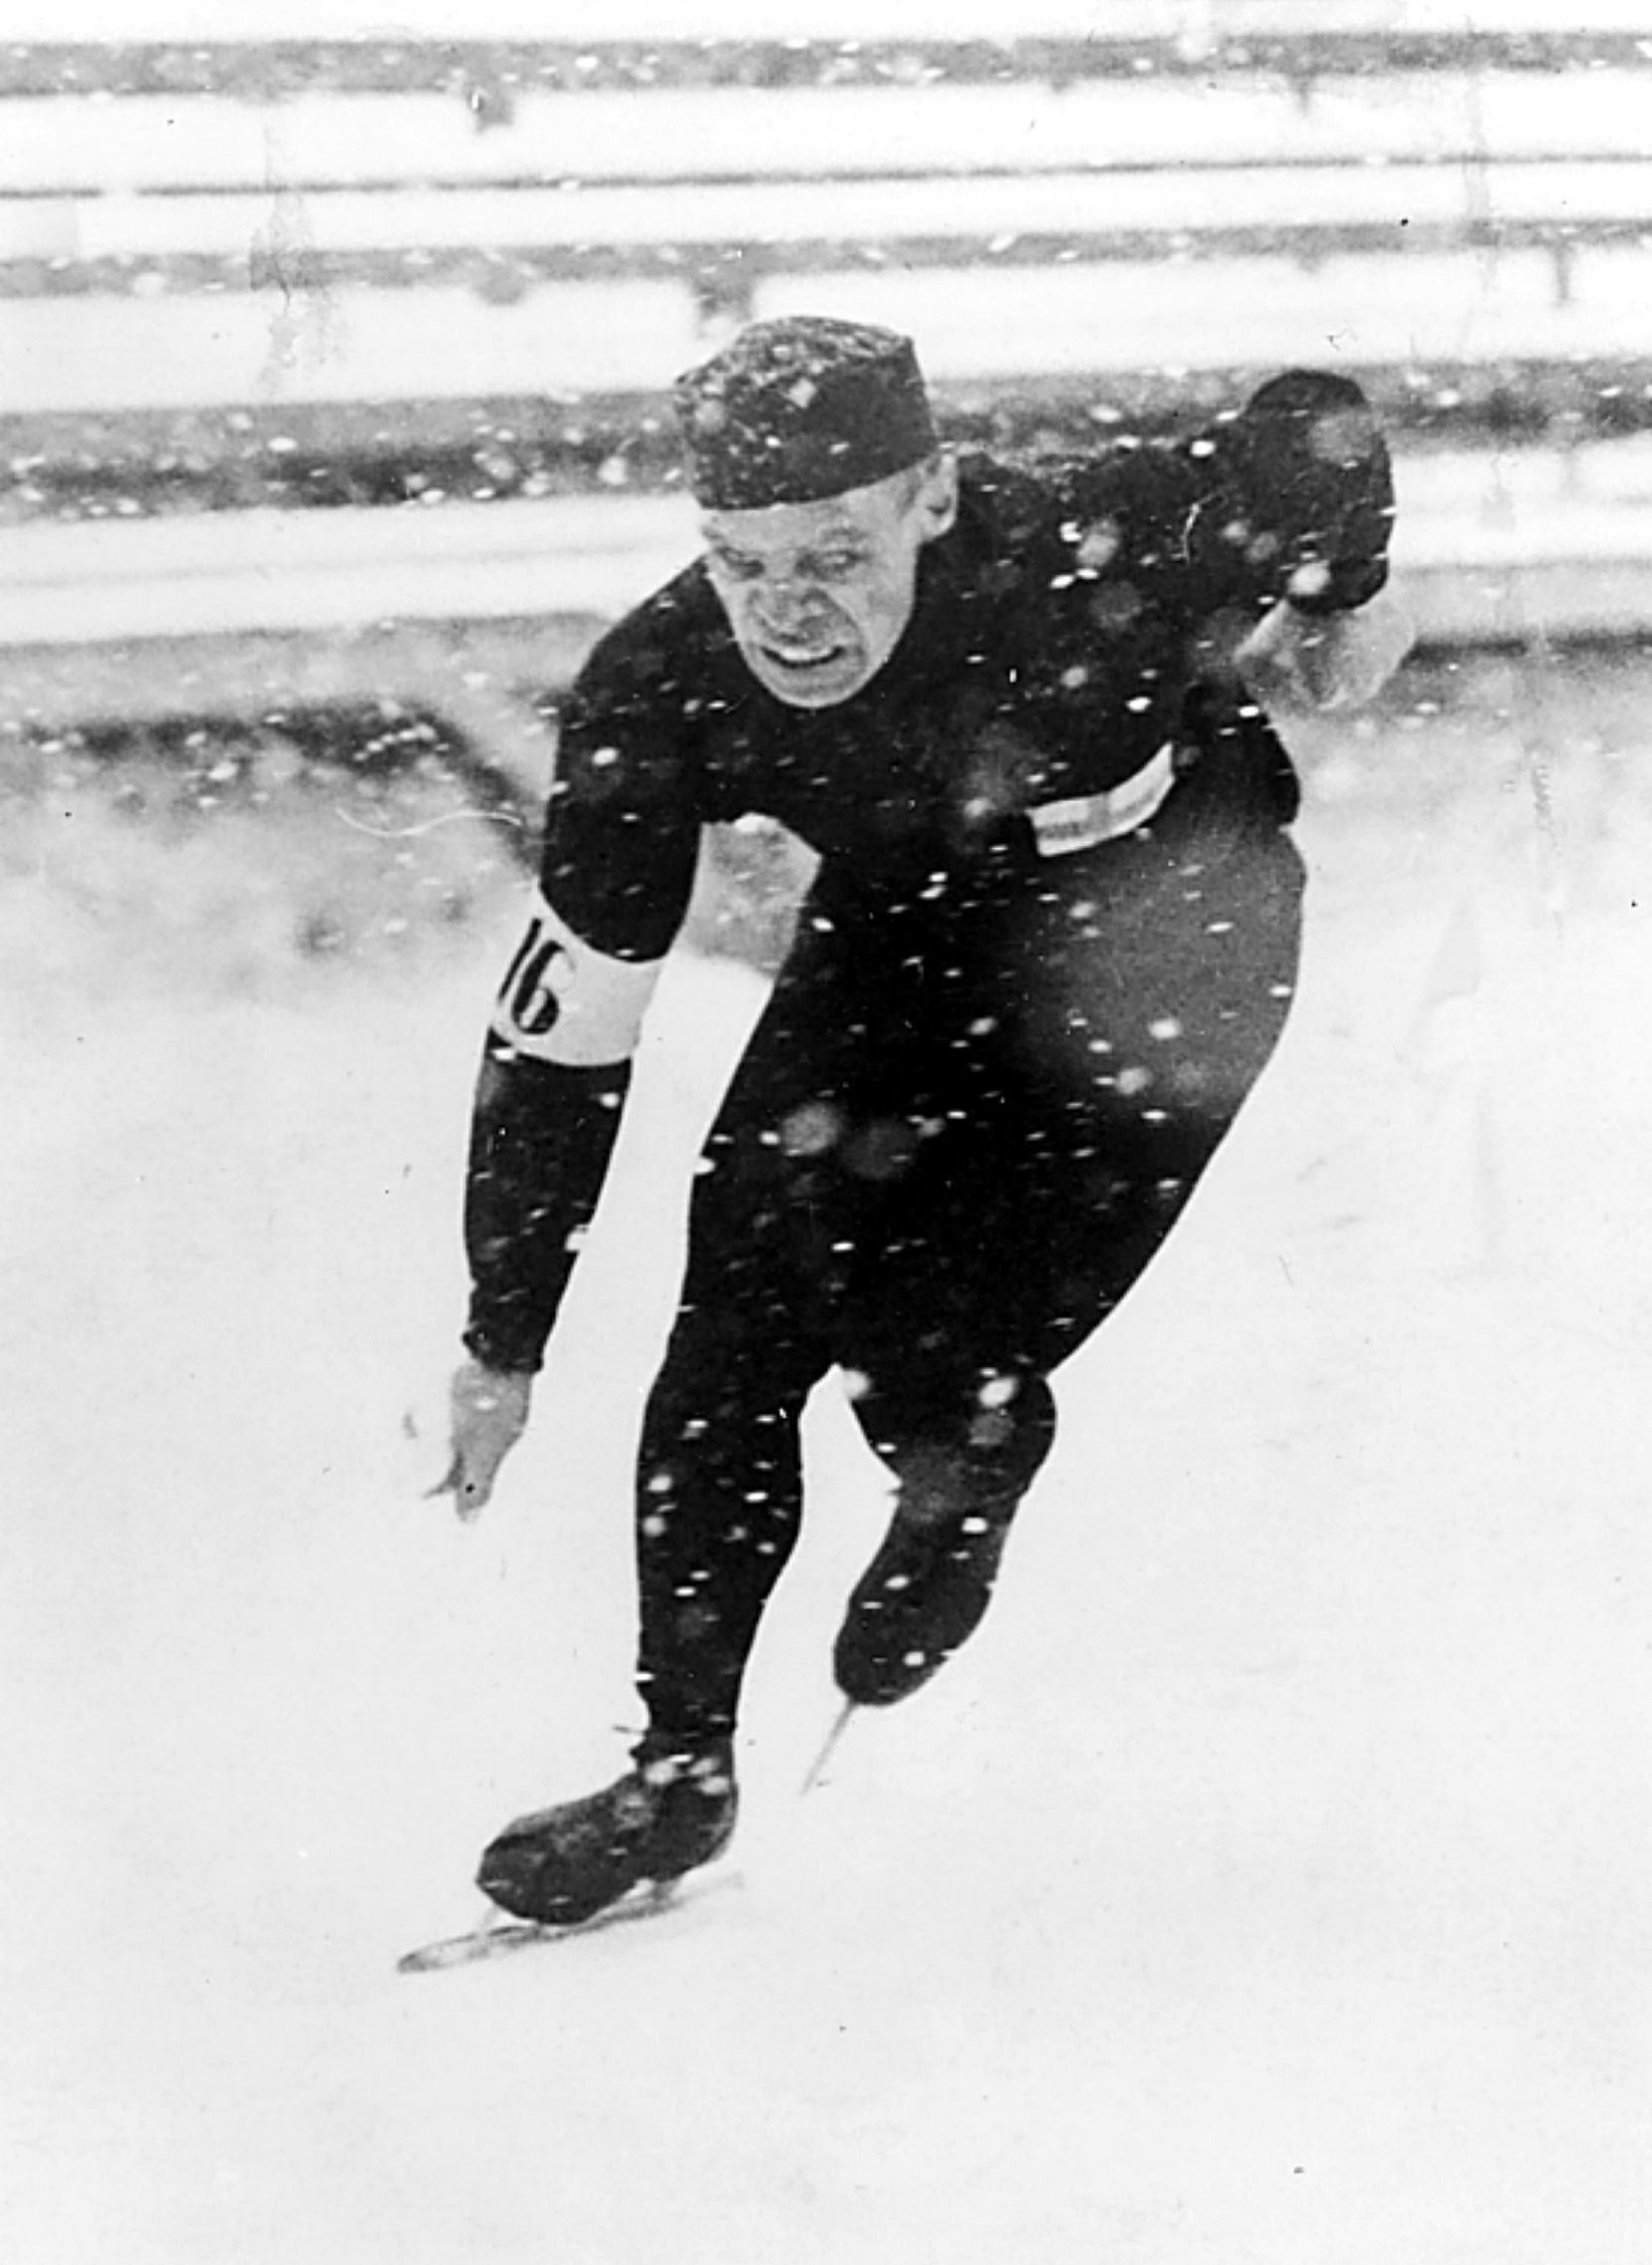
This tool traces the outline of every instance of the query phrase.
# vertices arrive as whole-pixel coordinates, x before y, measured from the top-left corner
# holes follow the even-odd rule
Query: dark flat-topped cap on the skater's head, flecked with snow
[[[755,322],[673,396],[689,487],[718,512],[818,503],[938,446],[911,340],[866,322]]]

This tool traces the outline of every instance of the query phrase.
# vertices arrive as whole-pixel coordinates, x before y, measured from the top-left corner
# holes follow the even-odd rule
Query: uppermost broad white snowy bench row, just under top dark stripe
[[[1292,79],[1215,66],[1197,79],[1015,77],[918,91],[530,88],[485,129],[451,91],[308,91],[274,102],[32,95],[5,104],[0,193],[52,211],[59,197],[544,186],[562,190],[578,213],[589,186],[693,193],[736,181],[1106,179],[1172,165],[1434,165],[1475,186],[1500,165],[1645,156],[1643,102],[1645,59],[1641,68],[1573,75],[1389,66]],[[195,224],[204,213],[190,213]],[[109,249],[125,249],[120,229],[140,217],[136,204],[107,215]],[[0,236],[0,245],[11,256],[11,238]],[[140,236],[131,247],[145,249]],[[213,247],[184,238],[163,249]]]

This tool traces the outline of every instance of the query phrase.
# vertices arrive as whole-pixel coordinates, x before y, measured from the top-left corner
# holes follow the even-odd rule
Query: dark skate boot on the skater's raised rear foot
[[[1008,1511],[900,1508],[854,1583],[832,1656],[857,1706],[909,1699],[970,1638],[993,1601]]]

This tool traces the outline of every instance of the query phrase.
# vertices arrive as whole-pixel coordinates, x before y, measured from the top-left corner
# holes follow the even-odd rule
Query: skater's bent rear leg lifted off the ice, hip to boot
[[[1231,854],[1172,904],[1149,879],[1151,933],[1124,899],[1106,949],[1045,938],[1020,1015],[961,1062],[972,1099],[922,1153],[897,1232],[859,1250],[838,1359],[900,1484],[836,1647],[863,1703],[906,1696],[979,1624],[1054,1441],[1051,1370],[1151,1264],[1283,1031],[1289,843]]]

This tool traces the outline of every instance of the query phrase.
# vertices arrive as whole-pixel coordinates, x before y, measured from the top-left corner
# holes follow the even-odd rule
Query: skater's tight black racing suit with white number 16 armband
[[[906,1495],[1004,1515],[1029,1486],[1049,1373],[1163,1243],[1296,981],[1296,779],[1224,655],[1280,598],[1371,598],[1389,523],[1362,396],[1292,374],[1192,442],[965,462],[902,641],[834,709],[752,680],[698,564],[596,646],[478,1087],[483,1361],[539,1366],[700,829],[766,813],[820,856],[644,1420],[655,1730],[734,1724],[832,1366]]]

